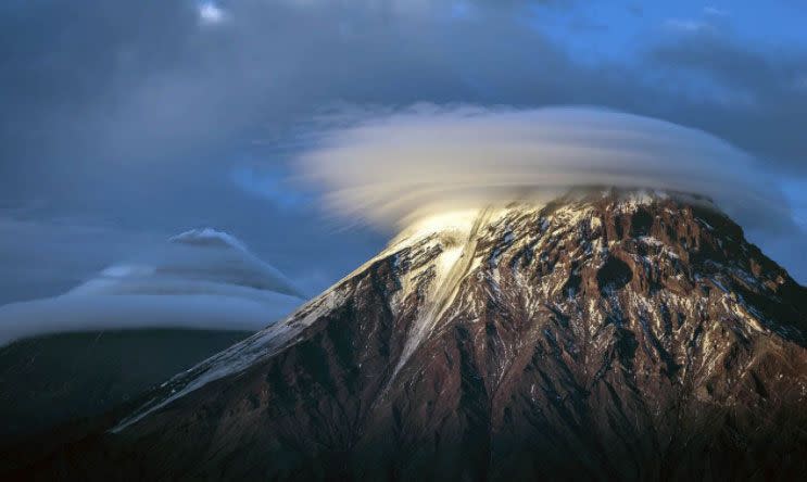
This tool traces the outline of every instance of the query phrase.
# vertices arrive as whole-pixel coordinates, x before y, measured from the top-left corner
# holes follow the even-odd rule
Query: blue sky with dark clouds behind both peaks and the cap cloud
[[[333,216],[295,161],[324,125],[420,103],[596,106],[722,139],[791,213],[749,238],[805,283],[799,3],[5,0],[0,304],[204,227],[314,295],[393,232]]]

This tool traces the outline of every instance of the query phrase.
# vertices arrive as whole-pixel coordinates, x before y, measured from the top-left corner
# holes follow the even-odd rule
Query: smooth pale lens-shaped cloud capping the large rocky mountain
[[[741,220],[783,205],[754,160],[729,143],[597,109],[421,105],[370,115],[326,131],[298,167],[325,189],[328,208],[384,227],[578,187],[706,195]]]

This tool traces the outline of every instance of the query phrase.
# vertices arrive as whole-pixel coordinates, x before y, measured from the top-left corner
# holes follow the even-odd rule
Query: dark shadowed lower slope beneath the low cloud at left
[[[244,331],[60,333],[0,347],[0,444],[134,401]]]

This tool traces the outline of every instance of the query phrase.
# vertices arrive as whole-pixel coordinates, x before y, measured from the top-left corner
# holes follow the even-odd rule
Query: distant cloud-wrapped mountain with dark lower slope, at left
[[[135,401],[303,302],[235,237],[204,228],[61,296],[2,306],[0,452]]]

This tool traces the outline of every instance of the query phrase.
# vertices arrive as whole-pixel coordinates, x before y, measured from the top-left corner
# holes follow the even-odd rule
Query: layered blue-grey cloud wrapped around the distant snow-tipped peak
[[[193,230],[104,269],[64,295],[0,306],[0,346],[67,331],[256,331],[303,301],[290,280],[234,237]]]

